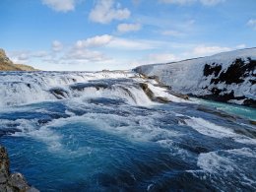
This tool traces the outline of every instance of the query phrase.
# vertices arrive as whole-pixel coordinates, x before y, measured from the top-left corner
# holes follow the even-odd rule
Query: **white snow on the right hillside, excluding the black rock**
[[[220,90],[226,89],[221,95],[229,94],[231,91],[234,91],[234,96],[246,96],[247,98],[256,99],[256,85],[252,85],[249,81],[256,79],[255,77],[253,78],[253,74],[256,74],[256,69],[253,74],[251,74],[249,78],[245,78],[244,82],[241,84],[227,85],[222,82],[213,86],[211,85],[211,80],[214,78],[214,75],[208,77],[204,76],[205,64],[216,63],[222,65],[221,74],[236,58],[247,60],[248,57],[252,60],[256,60],[256,48],[224,52],[213,56],[180,62],[144,65],[137,67],[135,71],[147,76],[158,76],[160,82],[170,86],[174,92],[181,94],[206,96],[212,94],[210,91],[213,87],[217,87]],[[206,87],[209,88],[204,89]],[[239,103],[239,101],[236,102]]]

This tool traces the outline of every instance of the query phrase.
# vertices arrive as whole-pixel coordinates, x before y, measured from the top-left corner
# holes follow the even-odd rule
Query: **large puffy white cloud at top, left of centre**
[[[108,24],[112,20],[125,20],[131,13],[127,8],[120,8],[114,0],[97,0],[96,7],[90,13],[90,20],[100,24]]]

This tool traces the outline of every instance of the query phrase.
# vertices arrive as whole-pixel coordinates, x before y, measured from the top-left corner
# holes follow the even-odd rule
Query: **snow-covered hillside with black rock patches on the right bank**
[[[255,107],[256,48],[134,69],[174,92]]]

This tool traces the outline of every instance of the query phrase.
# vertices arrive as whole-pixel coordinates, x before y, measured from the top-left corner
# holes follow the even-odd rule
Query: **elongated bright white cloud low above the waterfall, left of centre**
[[[85,40],[78,40],[76,42],[77,48],[85,48],[85,47],[100,47],[106,45],[111,41],[113,37],[108,34],[96,35],[91,38],[87,38]]]

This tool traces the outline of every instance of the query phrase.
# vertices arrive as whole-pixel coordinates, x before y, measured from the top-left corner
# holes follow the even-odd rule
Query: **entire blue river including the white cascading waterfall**
[[[0,143],[41,191],[256,190],[254,108],[225,112],[128,71],[0,73],[0,84]]]

